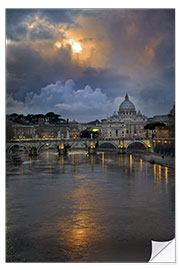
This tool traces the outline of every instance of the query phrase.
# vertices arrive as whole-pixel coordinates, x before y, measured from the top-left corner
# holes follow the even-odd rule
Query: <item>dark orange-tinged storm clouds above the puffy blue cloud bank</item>
[[[40,95],[43,87],[72,79],[75,91],[90,85],[100,88],[109,100],[119,100],[128,92],[143,113],[168,113],[175,95],[174,13],[162,9],[7,10],[9,104],[14,99],[15,107],[22,108],[27,93]],[[68,44],[59,50],[54,47],[57,40],[67,38],[67,30],[69,35],[77,32],[83,46],[94,44],[87,60],[73,59]]]

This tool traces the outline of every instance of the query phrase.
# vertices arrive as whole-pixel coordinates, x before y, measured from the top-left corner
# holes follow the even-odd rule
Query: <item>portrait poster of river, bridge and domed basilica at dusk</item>
[[[7,262],[174,240],[174,74],[174,9],[6,10]]]

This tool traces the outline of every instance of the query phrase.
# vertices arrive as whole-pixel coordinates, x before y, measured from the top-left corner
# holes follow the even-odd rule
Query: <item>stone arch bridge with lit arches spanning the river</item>
[[[131,150],[150,150],[152,151],[152,142],[150,139],[136,138],[108,138],[108,139],[16,139],[6,143],[7,154],[12,153],[14,147],[25,149],[29,155],[38,155],[41,149],[55,149],[63,143],[69,145],[71,149],[87,149],[90,143],[96,145],[99,151],[131,151]]]

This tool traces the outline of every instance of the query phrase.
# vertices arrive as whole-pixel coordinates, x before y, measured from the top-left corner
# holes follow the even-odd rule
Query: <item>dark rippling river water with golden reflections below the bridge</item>
[[[143,262],[174,238],[174,170],[128,155],[7,163],[8,262]]]

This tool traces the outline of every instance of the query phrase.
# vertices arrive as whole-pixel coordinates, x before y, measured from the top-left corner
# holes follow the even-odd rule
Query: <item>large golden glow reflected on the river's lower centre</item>
[[[84,175],[80,178],[83,177]],[[63,245],[68,257],[73,261],[78,261],[79,256],[88,257],[91,246],[100,237],[99,225],[91,211],[94,208],[98,211],[93,194],[94,191],[86,185],[78,186],[70,195],[75,210],[69,219],[59,221],[60,231],[63,232],[59,237],[59,244]]]

